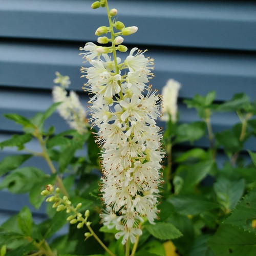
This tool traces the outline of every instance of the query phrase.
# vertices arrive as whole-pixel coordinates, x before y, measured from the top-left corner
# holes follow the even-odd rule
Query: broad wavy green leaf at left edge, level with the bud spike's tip
[[[26,193],[45,177],[46,174],[36,167],[19,168],[4,178],[0,189],[7,187],[12,193]]]

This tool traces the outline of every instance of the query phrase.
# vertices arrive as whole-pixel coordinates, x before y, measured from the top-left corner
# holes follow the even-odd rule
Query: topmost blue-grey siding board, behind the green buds
[[[105,11],[91,1],[0,0],[0,36],[95,41]],[[129,44],[256,50],[256,6],[249,2],[110,2],[126,26],[139,32]],[[132,21],[131,21],[132,20]],[[90,26],[89,26],[90,24]]]

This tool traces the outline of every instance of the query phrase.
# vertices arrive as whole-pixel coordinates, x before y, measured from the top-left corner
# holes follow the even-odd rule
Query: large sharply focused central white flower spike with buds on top
[[[154,63],[144,56],[145,51],[133,48],[125,59],[116,57],[116,51],[127,50],[120,45],[120,35],[135,33],[138,28],[124,27],[112,19],[116,9],[109,11],[107,7],[107,12],[110,26],[98,28],[95,34],[110,32],[111,38],[99,37],[98,42],[112,42],[112,46],[88,42],[80,48],[83,58],[91,64],[89,68],[81,67],[81,72],[88,79],[84,89],[92,94],[90,120],[98,127],[96,141],[102,148],[102,222],[119,230],[115,237],[123,237],[125,244],[129,238],[134,243],[142,234],[140,224],[145,220],[154,224],[158,214],[164,153],[156,119],[161,99],[147,85]],[[114,27],[119,32],[114,32]]]

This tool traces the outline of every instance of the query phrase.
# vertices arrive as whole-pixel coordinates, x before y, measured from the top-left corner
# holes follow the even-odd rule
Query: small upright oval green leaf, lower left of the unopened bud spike
[[[30,237],[32,231],[32,214],[27,206],[23,207],[18,214],[18,227],[25,236]]]

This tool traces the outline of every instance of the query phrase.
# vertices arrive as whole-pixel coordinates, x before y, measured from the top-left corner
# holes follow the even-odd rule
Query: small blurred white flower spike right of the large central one
[[[178,112],[178,93],[180,90],[180,83],[174,79],[169,79],[166,85],[163,87],[162,95],[163,95],[163,108],[162,108],[162,119],[164,121],[168,121],[169,115],[172,122],[177,121],[177,112]]]

